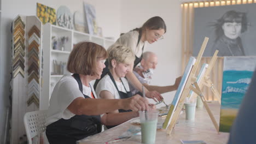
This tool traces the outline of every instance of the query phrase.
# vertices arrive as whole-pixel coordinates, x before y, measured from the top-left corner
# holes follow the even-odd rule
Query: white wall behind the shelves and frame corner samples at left
[[[83,0],[2,0],[2,23],[1,23],[1,48],[0,48],[0,143],[3,143],[5,106],[9,106],[9,79],[11,68],[11,21],[17,15],[36,15],[36,3],[42,3],[49,7],[57,8],[66,5],[73,14],[79,10],[83,13]],[[97,24],[102,27],[104,37],[118,38],[120,33],[120,1],[119,0],[87,0],[95,6]]]

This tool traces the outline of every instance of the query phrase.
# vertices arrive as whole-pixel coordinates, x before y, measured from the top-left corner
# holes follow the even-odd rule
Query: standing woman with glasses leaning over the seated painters
[[[146,41],[149,44],[158,41],[159,39],[163,39],[163,36],[166,33],[166,25],[164,20],[155,16],[147,20],[142,27],[133,29],[132,31],[121,35],[121,37],[113,44],[113,45],[123,45],[131,49],[131,51],[135,54],[135,61],[130,66],[130,71],[126,74],[126,78],[133,86],[135,86],[139,91],[142,92],[142,83],[139,82],[137,77],[132,73],[132,69],[137,66],[142,59],[142,53],[144,50],[144,46]],[[107,62],[107,61],[106,61]],[[106,68],[103,70],[101,77],[107,74],[108,63],[106,64]],[[96,88],[98,81],[95,82],[94,87]],[[146,97],[152,98],[155,100],[163,99],[160,93],[156,91],[149,92],[145,88]],[[156,101],[156,100],[155,100]]]

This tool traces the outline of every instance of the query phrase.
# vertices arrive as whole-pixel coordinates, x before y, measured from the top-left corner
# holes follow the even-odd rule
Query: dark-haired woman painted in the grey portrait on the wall
[[[227,11],[212,25],[216,34],[212,53],[219,50],[219,56],[245,56],[240,35],[247,30],[247,25],[246,13]]]

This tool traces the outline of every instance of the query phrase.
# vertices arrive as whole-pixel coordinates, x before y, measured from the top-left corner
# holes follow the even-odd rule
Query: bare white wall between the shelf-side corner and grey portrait
[[[145,51],[158,55],[158,67],[154,71],[152,85],[173,85],[181,74],[181,6],[179,1],[121,1],[121,32],[141,27],[150,17],[164,19],[167,32],[164,39],[148,44]],[[175,92],[162,94],[171,104]],[[155,103],[150,100],[150,102]],[[163,106],[163,105],[159,105]],[[158,107],[159,107],[158,106]]]

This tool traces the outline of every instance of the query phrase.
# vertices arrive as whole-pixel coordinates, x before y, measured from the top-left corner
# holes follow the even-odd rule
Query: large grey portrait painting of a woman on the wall
[[[209,38],[203,56],[256,56],[256,4],[194,9],[193,56]]]

